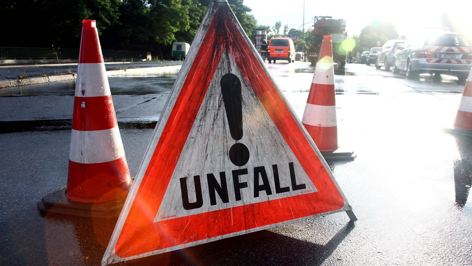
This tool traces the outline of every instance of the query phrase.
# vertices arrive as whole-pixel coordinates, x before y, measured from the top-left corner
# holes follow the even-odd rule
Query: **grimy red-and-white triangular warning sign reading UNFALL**
[[[351,206],[226,0],[213,0],[103,265]]]

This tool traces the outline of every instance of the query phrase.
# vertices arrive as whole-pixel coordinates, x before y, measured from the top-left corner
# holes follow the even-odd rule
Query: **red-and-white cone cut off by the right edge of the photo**
[[[455,115],[454,128],[472,131],[472,69],[467,78],[467,82],[465,82],[461,103]]]

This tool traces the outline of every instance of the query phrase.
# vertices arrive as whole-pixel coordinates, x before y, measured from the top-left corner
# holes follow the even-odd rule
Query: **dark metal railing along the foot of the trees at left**
[[[104,59],[146,58],[146,52],[102,50]],[[0,47],[0,59],[78,59],[79,49]]]

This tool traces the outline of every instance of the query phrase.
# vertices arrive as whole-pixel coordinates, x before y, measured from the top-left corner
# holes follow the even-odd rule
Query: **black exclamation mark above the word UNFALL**
[[[241,81],[235,74],[225,74],[220,82],[221,94],[228,118],[229,132],[235,141],[243,137],[243,96]],[[243,143],[235,143],[229,149],[229,160],[236,166],[243,166],[249,160],[249,150]]]

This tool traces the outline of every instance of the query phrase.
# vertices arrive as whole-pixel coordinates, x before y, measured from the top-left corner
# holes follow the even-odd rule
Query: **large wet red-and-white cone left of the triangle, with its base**
[[[89,216],[89,204],[80,203],[121,201],[130,186],[131,177],[105,74],[95,20],[84,20],[67,188],[62,187],[52,195],[43,197],[38,207],[42,213],[53,211]],[[114,204],[108,205],[104,206],[99,216],[107,216],[107,208]]]

